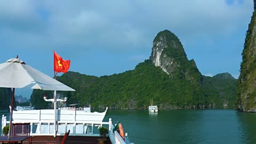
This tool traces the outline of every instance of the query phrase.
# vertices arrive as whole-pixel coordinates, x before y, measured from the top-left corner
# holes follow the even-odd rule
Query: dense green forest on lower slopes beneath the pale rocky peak
[[[197,105],[202,99],[193,99],[197,91],[186,80],[170,80],[168,75],[151,61],[146,60],[136,66],[133,71],[103,77],[81,75],[67,72],[59,81],[76,89],[76,92],[63,92],[69,97],[67,104],[91,103],[92,107],[101,108],[146,108],[153,98],[154,103],[163,108],[171,105],[184,107]],[[47,91],[34,90],[32,103],[38,107],[46,107],[47,102],[35,102],[37,96]],[[194,93],[193,93],[194,92]],[[34,97],[35,95],[35,97]],[[48,92],[48,96],[52,96]],[[36,98],[36,99],[35,99]]]

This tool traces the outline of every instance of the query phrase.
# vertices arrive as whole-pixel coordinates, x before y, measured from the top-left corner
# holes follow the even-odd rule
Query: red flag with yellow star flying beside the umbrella
[[[64,60],[55,51],[53,51],[53,64],[55,72],[66,73],[69,70],[70,60]]]

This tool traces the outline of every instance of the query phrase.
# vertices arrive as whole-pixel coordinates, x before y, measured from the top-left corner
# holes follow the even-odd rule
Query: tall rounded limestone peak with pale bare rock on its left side
[[[171,78],[186,78],[191,83],[202,81],[195,61],[187,59],[179,38],[168,30],[159,32],[155,37],[150,59]]]

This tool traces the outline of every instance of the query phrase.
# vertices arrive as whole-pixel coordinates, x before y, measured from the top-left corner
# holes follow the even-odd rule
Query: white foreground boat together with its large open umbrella
[[[74,89],[32,67],[29,67],[24,61],[18,59],[18,56],[16,59],[10,59],[6,63],[0,65],[2,67],[2,71],[0,72],[1,76],[4,75],[3,77],[8,78],[1,80],[0,84],[2,84],[2,87],[13,88],[12,102],[11,106],[9,106],[9,121],[5,115],[2,115],[2,135],[3,129],[6,130],[10,127],[8,141],[11,139],[12,141],[16,141],[15,137],[16,139],[20,139],[19,141],[23,141],[24,137],[21,137],[22,134],[26,136],[26,138],[32,136],[32,144],[58,144],[63,139],[64,134],[70,131],[69,136],[66,139],[66,144],[98,144],[98,139],[101,139],[102,137],[97,133],[96,128],[105,125],[108,130],[107,144],[131,144],[128,139],[128,134],[125,133],[124,136],[124,133],[122,133],[122,137],[120,136],[115,129],[115,126],[112,124],[111,118],[109,118],[107,122],[103,122],[107,107],[104,112],[91,112],[91,109],[90,112],[85,112],[82,107],[81,109],[80,107],[79,109],[57,109],[57,102],[65,102],[67,101],[67,97],[64,97],[64,99],[57,99],[56,91],[75,91]],[[7,68],[5,69],[5,67]],[[10,74],[10,76],[8,74]],[[28,85],[32,86],[32,89],[54,91],[54,99],[47,99],[46,95],[43,97],[45,101],[54,103],[54,109],[13,111],[15,88],[23,88]],[[6,125],[8,126],[6,127]],[[26,128],[25,125],[27,125]],[[18,131],[19,135],[16,135],[15,133],[18,133]],[[5,140],[6,137],[7,136],[2,138]],[[23,140],[21,140],[21,138]],[[21,143],[28,144],[29,141],[30,138]]]

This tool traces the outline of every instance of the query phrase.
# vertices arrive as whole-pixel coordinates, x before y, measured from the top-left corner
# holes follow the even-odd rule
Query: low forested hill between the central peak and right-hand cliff
[[[237,79],[229,73],[213,77],[203,76],[205,99],[213,107],[233,107],[235,103]]]

